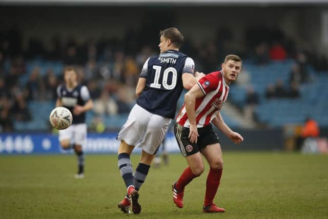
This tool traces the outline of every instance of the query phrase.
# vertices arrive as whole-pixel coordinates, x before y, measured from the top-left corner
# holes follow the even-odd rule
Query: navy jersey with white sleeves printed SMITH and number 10
[[[194,74],[194,68],[193,59],[176,50],[149,57],[140,73],[147,81],[137,104],[151,113],[174,118],[183,90],[182,74]]]

